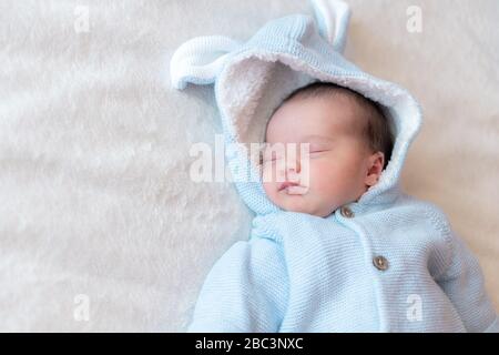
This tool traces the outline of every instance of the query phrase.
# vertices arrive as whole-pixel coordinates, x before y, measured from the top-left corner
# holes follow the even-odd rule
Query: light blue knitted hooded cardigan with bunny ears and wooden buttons
[[[348,7],[312,1],[315,17],[288,16],[247,42],[201,37],[171,60],[172,84],[214,83],[226,161],[255,212],[247,241],[210,271],[190,332],[497,332],[480,266],[445,214],[400,190],[421,113],[403,88],[343,55]],[[396,138],[378,183],[327,217],[283,211],[265,195],[244,144],[262,142],[282,100],[313,81],[378,102]]]

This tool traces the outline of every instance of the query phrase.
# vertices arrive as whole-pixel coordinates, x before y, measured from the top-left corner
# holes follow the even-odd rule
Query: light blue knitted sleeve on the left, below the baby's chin
[[[282,250],[268,239],[241,241],[210,271],[187,332],[277,332],[286,303]]]

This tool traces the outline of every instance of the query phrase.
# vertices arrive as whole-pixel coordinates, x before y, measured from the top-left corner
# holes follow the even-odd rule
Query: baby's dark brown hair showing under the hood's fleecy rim
[[[385,169],[391,156],[394,134],[391,132],[388,119],[386,119],[383,114],[379,104],[373,100],[369,100],[348,88],[344,88],[332,82],[316,81],[293,91],[283,100],[281,105],[292,99],[324,98],[327,95],[334,97],[336,94],[340,94],[353,100],[353,102],[355,102],[358,109],[360,109],[364,113],[366,124],[364,124],[361,134],[368,142],[369,149],[373,152],[383,152],[385,154],[385,165],[383,166],[383,169]]]

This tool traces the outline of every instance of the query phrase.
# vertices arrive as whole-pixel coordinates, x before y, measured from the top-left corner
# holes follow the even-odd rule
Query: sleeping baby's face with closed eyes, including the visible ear
[[[273,176],[263,179],[263,185],[274,204],[324,217],[357,201],[377,182],[384,156],[369,151],[358,110],[348,98],[337,95],[292,99],[274,113],[263,159],[263,175]],[[296,143],[287,145],[297,146],[296,154],[279,155],[272,149],[287,143]],[[301,143],[309,143],[307,161],[301,156]],[[304,162],[308,176],[302,171]]]

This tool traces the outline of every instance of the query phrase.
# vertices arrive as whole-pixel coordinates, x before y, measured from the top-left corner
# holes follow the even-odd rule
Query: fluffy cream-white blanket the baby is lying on
[[[440,205],[499,310],[499,2],[348,1],[346,57],[420,101],[404,186]],[[406,9],[422,9],[422,33]],[[78,33],[78,6],[89,32]],[[77,10],[78,11],[78,10]],[[228,184],[189,180],[221,132],[211,87],[176,92],[195,36],[248,39],[304,0],[0,0],[0,331],[169,331],[251,222]],[[75,296],[90,300],[78,322]]]

